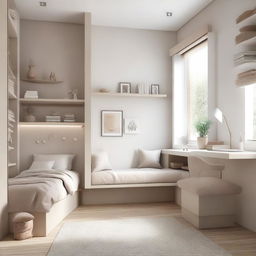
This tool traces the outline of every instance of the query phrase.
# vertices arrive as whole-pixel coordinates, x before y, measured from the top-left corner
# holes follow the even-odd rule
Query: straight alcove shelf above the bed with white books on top
[[[72,99],[25,99],[20,98],[20,103],[24,105],[84,105],[84,100]]]

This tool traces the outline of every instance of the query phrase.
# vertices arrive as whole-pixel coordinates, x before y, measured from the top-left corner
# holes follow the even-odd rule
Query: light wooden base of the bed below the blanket
[[[30,212],[34,215],[34,236],[47,236],[69,213],[78,207],[79,192],[68,195],[65,199],[53,205],[50,212]],[[14,213],[9,213],[9,230],[12,229]]]

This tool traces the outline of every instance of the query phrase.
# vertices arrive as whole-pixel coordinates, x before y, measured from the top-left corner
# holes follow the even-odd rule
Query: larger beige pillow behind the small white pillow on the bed
[[[35,154],[34,161],[55,161],[53,169],[72,170],[73,154]]]

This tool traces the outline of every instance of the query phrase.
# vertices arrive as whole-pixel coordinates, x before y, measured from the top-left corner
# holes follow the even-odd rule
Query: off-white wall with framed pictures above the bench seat
[[[171,145],[171,59],[169,48],[176,42],[176,33],[153,30],[92,28],[92,90],[118,90],[118,82],[160,84],[168,99],[93,97],[92,151],[109,153],[114,168],[136,164],[138,148],[158,149]],[[101,137],[100,111],[123,110],[124,118],[140,121],[139,135],[121,138]]]

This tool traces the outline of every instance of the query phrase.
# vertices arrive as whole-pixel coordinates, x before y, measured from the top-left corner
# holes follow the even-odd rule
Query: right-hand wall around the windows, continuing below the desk
[[[178,31],[178,41],[189,37],[202,25],[209,24],[216,34],[216,87],[217,106],[227,116],[233,135],[233,146],[238,147],[240,134],[244,134],[244,89],[235,86],[233,55],[237,28],[236,18],[244,11],[256,7],[255,0],[215,0]],[[224,125],[218,124],[218,139],[228,138]],[[256,161],[225,161],[224,178],[242,187],[238,201],[238,222],[256,231]]]

